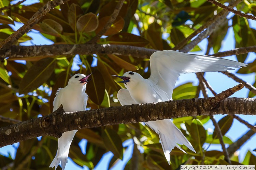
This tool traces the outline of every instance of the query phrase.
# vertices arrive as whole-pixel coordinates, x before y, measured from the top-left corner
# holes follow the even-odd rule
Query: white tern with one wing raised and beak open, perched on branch
[[[180,73],[213,72],[233,70],[230,67],[241,68],[244,63],[224,58],[186,54],[178,51],[157,51],[150,57],[151,76],[144,79],[136,72],[126,72],[123,79],[127,89],[120,89],[117,98],[122,105],[152,103],[172,100],[172,92]],[[164,155],[170,162],[170,152],[176,146],[185,145],[194,151],[191,143],[170,119],[145,122],[159,134]],[[184,150],[182,150],[185,152]],[[186,153],[186,152],[185,152]]]

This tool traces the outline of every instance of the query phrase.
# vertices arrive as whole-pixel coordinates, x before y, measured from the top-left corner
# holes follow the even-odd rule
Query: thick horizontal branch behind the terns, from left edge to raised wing
[[[11,46],[9,49],[0,49],[0,58],[24,58],[33,56],[56,55],[86,55],[86,54],[116,54],[132,55],[134,57],[147,58],[152,53],[159,51],[143,47],[109,45],[109,44],[58,44],[44,46]]]

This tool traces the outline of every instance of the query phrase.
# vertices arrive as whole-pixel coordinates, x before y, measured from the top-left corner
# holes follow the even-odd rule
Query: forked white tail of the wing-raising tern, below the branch
[[[183,133],[177,128],[170,119],[157,120],[145,122],[150,128],[159,134],[163,153],[165,154],[168,164],[170,163],[170,153],[174,147],[179,148],[181,151],[186,153],[180,145],[185,145],[188,149],[196,152],[191,143],[183,135]]]

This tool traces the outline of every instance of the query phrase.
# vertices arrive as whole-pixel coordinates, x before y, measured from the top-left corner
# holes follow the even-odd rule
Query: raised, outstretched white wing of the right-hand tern
[[[150,80],[155,88],[166,92],[169,100],[180,73],[214,72],[233,70],[230,67],[241,68],[247,64],[224,58],[187,54],[178,51],[157,51],[150,56]],[[162,96],[166,94],[160,94]]]

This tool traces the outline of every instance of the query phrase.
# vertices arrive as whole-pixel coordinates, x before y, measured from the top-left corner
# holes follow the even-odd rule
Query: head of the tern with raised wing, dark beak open
[[[139,73],[132,72],[132,71],[128,71],[124,73],[123,76],[119,76],[119,75],[113,75],[113,76],[122,79],[123,81],[120,81],[117,83],[124,83],[126,88],[136,86],[138,82],[143,80],[143,77]]]

